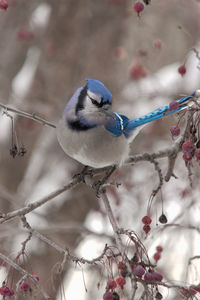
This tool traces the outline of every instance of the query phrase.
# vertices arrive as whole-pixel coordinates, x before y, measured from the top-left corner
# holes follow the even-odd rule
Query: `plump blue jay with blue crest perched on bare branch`
[[[86,79],[67,103],[57,126],[57,138],[63,150],[86,166],[102,168],[122,165],[128,158],[129,145],[148,122],[175,113],[195,95],[177,100],[177,107],[163,106],[140,118],[129,120],[112,112],[112,95],[96,79]]]

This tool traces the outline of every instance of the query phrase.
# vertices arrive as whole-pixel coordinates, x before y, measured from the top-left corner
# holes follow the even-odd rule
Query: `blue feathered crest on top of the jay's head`
[[[101,94],[103,98],[103,103],[112,103],[112,94],[109,89],[99,80],[96,79],[86,79],[88,83],[88,89],[95,93]]]

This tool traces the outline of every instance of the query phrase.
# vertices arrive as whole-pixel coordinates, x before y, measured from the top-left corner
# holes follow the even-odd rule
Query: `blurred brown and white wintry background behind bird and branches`
[[[8,9],[0,11],[0,102],[56,123],[74,91],[85,84],[85,78],[95,78],[112,92],[113,109],[134,118],[199,89],[200,1],[152,0],[140,16],[133,11],[134,3],[8,0]],[[182,65],[186,67],[185,74],[178,72]],[[169,147],[173,143],[170,127],[176,123],[176,117],[169,117],[147,126],[133,143],[132,154]],[[11,120],[2,113],[3,213],[41,199],[82,169],[62,151],[53,128],[17,115],[14,124],[18,142],[27,153],[14,159],[10,155]],[[167,161],[163,160],[161,167],[165,174]],[[178,179],[172,178],[164,185],[162,199],[169,223],[178,222],[179,227],[156,225],[162,212],[158,196],[152,204],[152,232],[148,238],[142,232],[141,218],[158,184],[154,167],[148,163],[118,170],[114,178],[121,186],[109,190],[109,199],[120,227],[135,230],[150,257],[162,244],[159,268],[167,280],[197,284],[196,261],[190,275],[187,262],[200,252],[199,233],[187,228],[200,225],[199,166],[194,162],[192,188],[181,155],[175,174]],[[31,212],[27,220],[32,228],[80,257],[92,259],[102,253],[105,243],[113,243],[104,207],[85,185]],[[15,219],[0,226],[0,238],[0,252],[15,259],[27,233]],[[106,268],[80,267],[69,262],[52,284],[54,266],[62,261],[62,255],[35,237],[27,243],[26,252],[26,263],[40,277],[52,299],[65,299],[58,293],[61,283],[66,299],[102,299],[103,279],[108,278]],[[6,270],[2,267],[2,278]],[[180,298],[177,290],[165,289],[163,295],[165,299]],[[23,297],[29,299],[31,295],[19,299]],[[121,299],[128,298],[124,294]]]

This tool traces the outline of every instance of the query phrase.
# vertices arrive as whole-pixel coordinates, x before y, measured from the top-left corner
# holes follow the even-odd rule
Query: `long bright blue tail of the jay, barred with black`
[[[136,127],[141,126],[143,124],[149,123],[151,121],[160,119],[164,116],[171,115],[176,113],[186,107],[188,105],[188,100],[190,100],[195,95],[195,92],[190,96],[183,97],[181,99],[176,100],[179,103],[179,107],[176,110],[169,110],[169,104],[162,106],[154,111],[134,120],[130,120],[125,128],[126,134],[128,135],[130,131],[134,130]]]

